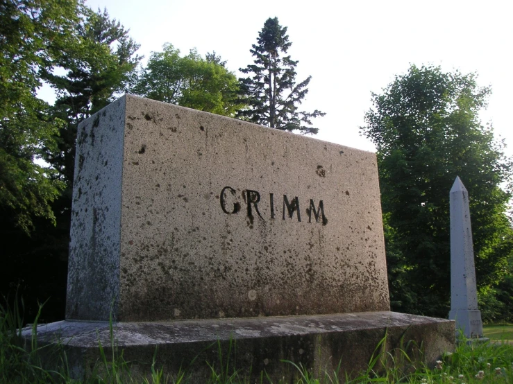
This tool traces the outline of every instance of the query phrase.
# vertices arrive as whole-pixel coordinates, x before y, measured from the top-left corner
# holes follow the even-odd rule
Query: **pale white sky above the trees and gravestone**
[[[327,112],[315,120],[317,139],[375,150],[359,126],[380,93],[410,64],[444,71],[477,72],[491,85],[483,123],[491,121],[513,155],[510,101],[513,91],[513,5],[509,1],[282,1],[282,0],[87,0],[131,30],[140,55],[170,42],[182,53],[216,51],[235,71],[253,63],[249,49],[269,17],[287,26],[299,60],[298,81],[312,75],[305,110]]]

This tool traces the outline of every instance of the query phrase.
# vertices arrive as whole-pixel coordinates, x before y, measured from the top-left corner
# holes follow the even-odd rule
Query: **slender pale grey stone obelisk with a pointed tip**
[[[482,336],[481,312],[478,309],[476,269],[469,210],[469,193],[456,177],[450,192],[451,204],[451,311],[467,338]]]

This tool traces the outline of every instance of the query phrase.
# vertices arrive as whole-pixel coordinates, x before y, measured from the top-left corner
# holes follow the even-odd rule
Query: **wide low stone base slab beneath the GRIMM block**
[[[223,320],[175,322],[119,322],[112,326],[115,344],[124,359],[131,362],[135,375],[149,374],[156,352],[158,367],[176,375],[185,369],[192,383],[205,383],[211,369],[224,366],[239,376],[260,379],[266,372],[273,382],[287,382],[299,372],[290,360],[314,374],[333,373],[340,364],[339,377],[354,376],[367,369],[380,340],[387,336],[385,348],[401,348],[414,360],[428,365],[455,346],[455,322],[433,317],[388,311],[301,315],[291,317],[253,317]],[[24,330],[30,338],[31,331]],[[40,344],[60,343],[67,351],[72,374],[77,378],[92,372],[99,359],[99,343],[106,356],[112,356],[108,322],[62,321],[37,328]],[[413,341],[413,342],[410,342]],[[233,370],[231,372],[233,372]],[[265,377],[265,376],[264,376]]]

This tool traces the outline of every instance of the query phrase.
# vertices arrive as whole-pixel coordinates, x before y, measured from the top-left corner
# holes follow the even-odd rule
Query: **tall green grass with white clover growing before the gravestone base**
[[[166,375],[164,369],[156,363],[158,351],[155,350],[153,363],[147,372],[131,372],[131,363],[124,358],[121,348],[117,346],[112,321],[110,322],[110,345],[106,349],[99,344],[100,358],[84,381],[74,380],[69,374],[64,349],[41,347],[37,344],[37,326],[32,325],[32,337],[28,341],[22,338],[23,302],[12,308],[0,305],[0,383],[1,384],[187,384],[191,383],[191,373],[187,369],[174,376]],[[41,308],[41,307],[40,307]],[[39,317],[39,314],[38,316]],[[419,359],[407,354],[412,345],[405,344],[393,351],[385,349],[386,336],[376,346],[369,365],[364,372],[348,376],[342,370],[342,363],[333,372],[312,372],[301,364],[283,360],[296,372],[293,384],[339,384],[339,383],[511,383],[513,384],[513,345],[501,342],[459,342],[453,354],[440,357],[435,367],[419,363]],[[214,344],[212,347],[216,347]],[[227,356],[217,343],[218,361],[205,362],[210,372],[205,377],[208,384],[255,384],[249,375],[242,372],[235,361],[230,360],[230,344]],[[49,350],[53,348],[53,350]],[[53,354],[51,369],[45,366],[42,356]],[[199,363],[199,362],[198,362]],[[215,363],[215,364],[214,364]],[[143,373],[143,375],[141,375]],[[273,381],[266,372],[256,375],[260,384],[285,384]],[[290,382],[287,381],[287,384]]]

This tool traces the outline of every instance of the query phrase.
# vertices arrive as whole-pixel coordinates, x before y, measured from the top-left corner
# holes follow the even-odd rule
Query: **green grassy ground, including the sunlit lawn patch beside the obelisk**
[[[40,361],[40,347],[35,338],[32,340],[31,351],[22,348],[19,338],[19,311],[10,311],[0,306],[0,383],[6,384],[187,384],[187,372],[175,377],[166,377],[160,367],[153,365],[148,368],[147,378],[133,378],[122,351],[115,351],[112,356],[102,355],[92,374],[86,381],[75,381],[69,376],[66,356],[62,355],[60,365],[52,370],[44,369]],[[498,330],[501,338],[510,338],[511,328],[508,326],[487,326],[487,335]],[[496,335],[496,333],[493,333]],[[101,350],[103,351],[103,349]],[[397,356],[401,356],[398,363]],[[221,358],[222,356],[219,356]],[[207,364],[207,363],[205,363]],[[501,342],[470,343],[460,342],[453,354],[440,357],[436,367],[426,367],[421,363],[410,361],[401,351],[399,354],[380,352],[369,361],[365,372],[352,380],[346,378],[344,372],[321,372],[316,377],[294,362],[283,361],[296,367],[297,377],[287,384],[338,384],[338,383],[505,383],[513,384],[513,345]],[[241,377],[237,371],[226,366],[223,372],[211,367],[211,375],[205,383],[212,384],[250,384],[249,379]],[[377,371],[376,367],[388,367]],[[271,381],[262,373],[257,384],[285,384]],[[251,384],[254,384],[251,382]]]

